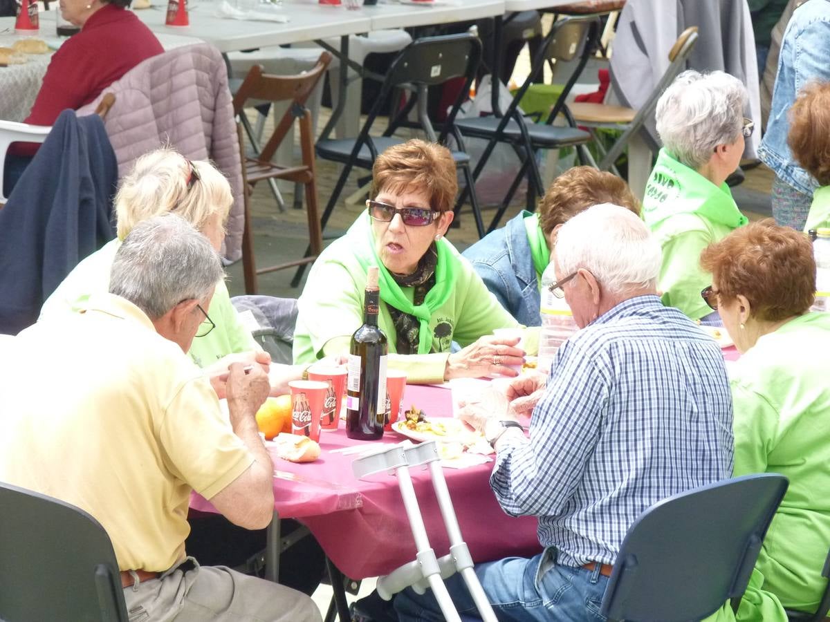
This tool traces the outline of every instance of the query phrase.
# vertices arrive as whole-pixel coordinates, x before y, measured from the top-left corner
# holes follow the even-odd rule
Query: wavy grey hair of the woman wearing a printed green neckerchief
[[[672,158],[698,170],[717,145],[740,137],[748,100],[734,75],[684,71],[657,101],[657,134]]]

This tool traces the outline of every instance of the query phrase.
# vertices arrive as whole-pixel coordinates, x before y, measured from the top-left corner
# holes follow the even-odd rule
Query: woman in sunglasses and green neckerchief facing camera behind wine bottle
[[[410,382],[515,376],[508,366],[523,361],[518,339],[491,333],[519,324],[444,239],[456,174],[447,148],[422,140],[375,159],[367,211],[315,261],[300,296],[295,363],[349,351],[363,324],[366,273],[377,265],[390,367],[404,369]],[[451,354],[453,341],[463,348]]]

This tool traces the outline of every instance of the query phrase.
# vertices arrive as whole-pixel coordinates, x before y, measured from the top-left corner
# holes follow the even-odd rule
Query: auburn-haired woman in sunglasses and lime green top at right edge
[[[813,249],[769,219],[710,245],[701,265],[703,300],[742,354],[730,367],[734,475],[789,478],[756,568],[785,608],[813,612],[830,542],[830,313],[808,313]]]

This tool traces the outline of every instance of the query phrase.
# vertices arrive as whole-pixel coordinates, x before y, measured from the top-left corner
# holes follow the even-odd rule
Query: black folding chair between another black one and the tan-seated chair
[[[510,185],[505,200],[496,212],[488,231],[493,231],[498,226],[501,216],[509,206],[510,199],[513,198],[525,173],[529,173],[527,206],[531,211],[535,209],[535,197],[541,197],[544,194],[542,175],[535,159],[537,150],[575,147],[577,153],[579,153],[581,163],[593,164],[593,158],[591,158],[587,148],[584,147],[593,138],[588,132],[583,132],[583,130],[576,127],[574,119],[565,106],[565,100],[574,88],[576,81],[579,80],[579,75],[582,74],[588,59],[593,56],[597,49],[599,32],[600,19],[596,15],[568,17],[554,22],[548,35],[544,37],[539,51],[536,52],[533,58],[530,75],[528,75],[520,89],[515,92],[510,106],[503,113],[496,109],[491,116],[477,119],[458,119],[456,121],[457,128],[464,136],[484,138],[489,141],[481,154],[481,158],[476,163],[476,168],[473,170],[473,179],[477,179],[481,174],[487,159],[490,158],[493,149],[496,148],[496,143],[509,143],[522,161],[520,171]],[[544,63],[574,60],[577,60],[574,72],[564,85],[562,94],[559,95],[559,99],[556,100],[544,124],[535,124],[525,120],[519,104],[535,80],[535,76],[543,75]],[[565,115],[569,126],[554,126],[554,120],[560,113]],[[461,193],[461,198],[464,198],[464,192]]]

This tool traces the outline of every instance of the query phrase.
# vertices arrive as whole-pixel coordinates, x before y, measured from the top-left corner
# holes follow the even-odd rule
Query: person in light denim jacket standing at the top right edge
[[[767,133],[759,158],[775,173],[773,216],[799,231],[807,221],[818,182],[798,166],[787,145],[789,109],[798,92],[815,80],[830,80],[830,0],[808,0],[793,12],[779,56]]]

